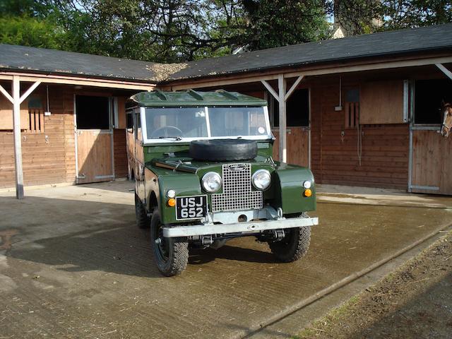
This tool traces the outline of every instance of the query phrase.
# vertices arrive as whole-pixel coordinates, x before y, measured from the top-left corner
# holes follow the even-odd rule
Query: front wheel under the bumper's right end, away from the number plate
[[[291,263],[307,253],[311,242],[311,227],[289,228],[284,232],[283,240],[270,242],[269,246],[278,261]]]

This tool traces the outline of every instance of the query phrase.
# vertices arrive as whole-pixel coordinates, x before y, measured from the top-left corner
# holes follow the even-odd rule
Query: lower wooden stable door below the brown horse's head
[[[452,137],[439,129],[412,131],[412,184],[416,193],[452,195]]]

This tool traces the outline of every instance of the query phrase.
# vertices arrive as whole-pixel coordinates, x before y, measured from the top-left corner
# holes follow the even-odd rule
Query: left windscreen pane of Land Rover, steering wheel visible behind
[[[149,139],[206,137],[204,107],[146,108],[146,130]]]

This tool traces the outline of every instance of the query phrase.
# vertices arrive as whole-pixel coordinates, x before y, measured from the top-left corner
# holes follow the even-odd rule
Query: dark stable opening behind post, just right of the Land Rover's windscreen
[[[272,127],[280,126],[279,105],[268,93],[268,114]],[[287,127],[309,126],[309,89],[295,90],[286,103]]]

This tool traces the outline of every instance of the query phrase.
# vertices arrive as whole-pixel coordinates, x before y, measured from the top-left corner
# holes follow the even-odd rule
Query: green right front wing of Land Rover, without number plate
[[[275,203],[284,214],[302,213],[316,209],[316,188],[314,175],[307,167],[280,164],[275,170]],[[312,196],[304,196],[303,183],[311,180]]]

